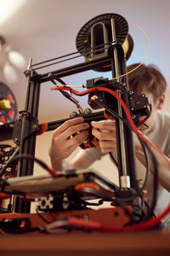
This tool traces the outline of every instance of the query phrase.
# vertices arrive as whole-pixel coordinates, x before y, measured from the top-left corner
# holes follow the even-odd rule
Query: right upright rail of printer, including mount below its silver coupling
[[[116,77],[116,82],[120,82],[120,75],[127,72],[126,61],[124,54],[121,56],[120,51],[117,53],[117,44],[116,44],[116,34],[115,34],[115,24],[114,20],[111,19],[111,29],[112,29],[112,75]],[[122,79],[128,88],[127,77]],[[116,93],[122,97],[121,90],[117,90]],[[123,95],[123,100],[127,105],[129,105],[128,96]],[[122,111],[122,106],[120,102],[117,102],[117,113],[123,117],[125,117],[125,113]],[[134,153],[134,144],[133,144],[133,132],[125,125],[122,120],[116,119],[116,146],[117,146],[117,157],[118,157],[118,172],[119,172],[119,182],[120,182],[120,190],[116,192],[117,198],[125,198],[126,200],[117,201],[117,204],[121,205],[135,205],[139,206],[139,212],[136,214],[135,211],[132,212],[131,221],[132,223],[136,223],[139,221],[140,216],[142,216],[142,210],[140,209],[139,197],[133,197],[133,191],[138,191],[138,179],[136,172],[136,160]]]

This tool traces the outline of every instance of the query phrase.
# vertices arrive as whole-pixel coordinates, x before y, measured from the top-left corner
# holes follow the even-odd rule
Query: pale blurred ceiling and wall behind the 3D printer
[[[15,0],[13,0],[15,1]],[[0,1],[1,9],[4,0]],[[2,34],[8,44],[25,55],[27,62],[32,58],[33,63],[75,52],[76,37],[82,26],[97,15],[115,13],[122,15],[129,25],[129,33],[134,42],[133,54],[127,61],[127,65],[133,62],[144,61],[148,54],[148,41],[150,40],[150,55],[146,64],[153,63],[160,67],[170,84],[169,60],[170,60],[170,1],[168,0],[26,0],[20,5],[8,20],[0,24]],[[144,29],[139,30],[137,24]],[[65,67],[74,65],[73,60],[65,64]],[[63,67],[63,64],[54,67],[43,68],[38,73],[52,72]],[[0,80],[8,84],[16,97],[18,110],[23,110],[26,101],[26,76],[24,71],[17,70],[19,80],[17,83],[8,84],[0,70]],[[88,71],[64,78],[67,84],[85,84],[87,79],[93,79],[103,75],[111,78],[111,73],[98,73]],[[69,117],[76,107],[66,100],[58,91],[51,91],[52,83],[41,85],[39,102],[39,121],[52,121]],[[87,97],[78,99],[83,108],[88,107]]]

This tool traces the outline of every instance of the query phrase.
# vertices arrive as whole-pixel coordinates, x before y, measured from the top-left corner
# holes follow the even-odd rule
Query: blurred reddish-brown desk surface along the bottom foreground
[[[170,255],[170,232],[1,236],[2,255]]]

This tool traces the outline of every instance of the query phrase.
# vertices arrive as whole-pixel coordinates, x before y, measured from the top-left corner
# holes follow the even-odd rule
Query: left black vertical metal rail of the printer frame
[[[40,96],[40,83],[39,81],[31,81],[31,62],[30,70],[27,70],[27,92],[26,92],[26,106],[25,110],[35,118],[38,115],[39,96]],[[20,137],[20,154],[35,155],[36,146],[36,133],[32,133],[25,138],[26,119],[27,114],[22,116],[21,137]],[[31,128],[31,127],[30,127]],[[18,176],[32,175],[34,162],[31,160],[19,160],[18,162]],[[16,197],[14,200],[14,212],[30,212],[31,204],[23,201],[21,198]]]

